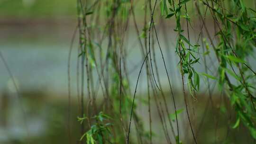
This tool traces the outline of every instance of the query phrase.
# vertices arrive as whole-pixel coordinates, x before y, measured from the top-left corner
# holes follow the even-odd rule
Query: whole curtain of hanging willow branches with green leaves
[[[101,87],[104,95],[104,105],[102,106],[102,109],[104,109],[104,113],[108,113],[111,116],[110,118],[101,112],[94,117],[90,117],[90,112],[87,112],[87,117],[79,117],[78,120],[82,124],[85,120],[90,122],[93,121],[89,130],[82,135],[81,140],[85,140],[87,144],[101,144],[105,142],[105,140],[108,140],[108,142],[111,143],[121,143],[123,141],[129,143],[129,139],[127,140],[125,132],[128,132],[129,135],[132,124],[131,121],[133,120],[136,125],[135,129],[137,132],[138,143],[152,143],[150,95],[154,95],[157,112],[161,117],[161,125],[163,126],[166,140],[171,143],[170,138],[168,138],[169,134],[164,117],[165,113],[167,113],[167,117],[170,121],[170,126],[174,135],[173,138],[176,140],[177,144],[182,144],[182,141],[179,139],[179,133],[176,136],[174,132],[172,122],[175,122],[177,115],[180,115],[183,112],[183,108],[179,110],[176,110],[175,108],[175,113],[169,114],[168,108],[165,106],[166,112],[164,112],[161,102],[159,102],[160,100],[157,97],[158,91],[155,89],[155,85],[157,88],[158,86],[155,81],[153,69],[156,70],[156,75],[158,74],[158,70],[156,66],[152,66],[152,60],[155,58],[153,57],[152,59],[151,54],[155,56],[155,51],[150,52],[149,47],[150,42],[153,41],[152,39],[150,40],[151,35],[155,35],[161,50],[154,21],[154,14],[157,10],[159,10],[161,18],[165,18],[166,21],[169,20],[175,22],[174,32],[177,34],[175,52],[179,57],[178,64],[183,85],[184,102],[194,142],[197,143],[197,140],[193,133],[192,120],[190,119],[191,114],[189,114],[189,102],[187,101],[185,90],[188,88],[190,92],[189,96],[191,96],[194,101],[197,101],[197,92],[201,92],[202,88],[202,78],[203,80],[206,80],[205,82],[207,84],[209,95],[212,93],[210,81],[214,81],[219,85],[219,92],[229,98],[230,105],[223,105],[220,103],[220,107],[218,106],[221,114],[230,112],[230,108],[228,107],[231,107],[235,112],[237,118],[236,120],[233,120],[234,122],[232,121],[230,123],[231,126],[229,126],[229,128],[236,130],[239,126],[243,125],[247,127],[251,136],[256,139],[256,109],[254,106],[256,103],[256,97],[254,96],[254,93],[256,92],[256,87],[254,86],[256,73],[253,71],[248,61],[248,58],[253,56],[253,49],[256,46],[256,11],[252,8],[247,8],[247,5],[243,0],[156,0],[154,1],[155,5],[153,5],[153,7],[152,3],[147,0],[146,2],[148,3],[145,3],[143,10],[145,10],[145,14],[147,15],[149,15],[148,11],[150,11],[151,21],[148,24],[147,15],[145,15],[144,26],[141,28],[142,30],[139,30],[136,23],[136,15],[133,11],[134,3],[129,0],[102,0],[99,2],[103,4],[103,8],[101,9],[89,9],[90,7],[87,6],[78,7],[78,18],[80,20],[79,46],[81,47],[79,58],[85,60],[87,63],[85,66],[87,74],[87,90],[89,91],[88,95],[90,95],[90,90],[94,88],[94,81],[91,80],[92,74],[90,73],[90,71],[94,70],[98,74],[99,87]],[[193,4],[194,7],[188,7],[190,4]],[[80,5],[82,5],[82,2],[80,2]],[[90,5],[92,7],[94,6],[91,3]],[[95,5],[97,6],[97,3]],[[190,13],[188,8],[193,8],[193,11]],[[198,20],[193,17],[195,14],[198,16],[197,18],[199,18],[197,23],[201,26],[201,30],[198,32],[199,34],[196,34],[195,36],[195,40],[197,41],[192,40],[189,34],[190,31],[194,30],[193,23]],[[104,23],[103,26],[95,24],[99,22],[97,21],[97,18],[100,17],[106,20],[106,23]],[[210,20],[214,25],[212,28],[214,29],[214,34],[210,34],[209,27],[205,24],[206,17],[211,18]],[[87,19],[90,19],[88,20],[89,22]],[[130,83],[126,71],[127,50],[123,47],[125,45],[126,28],[128,27],[130,19],[133,19],[135,28],[137,28],[136,37],[140,42],[142,55],[145,57],[143,64],[145,62],[146,65],[148,99],[137,99],[140,99],[149,107],[149,132],[144,130],[144,123],[136,113],[136,108],[138,108],[136,103],[137,99],[135,97],[137,89],[134,92],[134,97],[131,98],[132,92],[129,87]],[[183,26],[183,23],[186,25]],[[153,31],[152,29],[155,30],[155,34],[150,33]],[[170,29],[173,29],[173,27]],[[103,33],[102,37],[98,36],[101,32]],[[148,32],[150,36],[147,34]],[[97,39],[97,37],[101,38]],[[149,41],[147,41],[147,38]],[[199,44],[200,38],[201,45]],[[142,42],[143,40],[144,45]],[[106,51],[102,47],[103,42],[108,43]],[[147,43],[149,44],[147,45]],[[154,45],[152,47],[154,47]],[[100,54],[97,55],[97,52]],[[149,60],[147,57],[148,54]],[[99,58],[96,55],[99,56]],[[214,56],[214,60],[212,60],[212,56]],[[164,60],[164,56],[162,58]],[[208,60],[211,61],[210,64],[206,63]],[[151,65],[149,65],[149,62]],[[143,69],[143,64],[139,74]],[[209,65],[214,68],[210,69]],[[199,69],[197,69],[197,66],[205,67],[205,72],[200,72]],[[151,80],[152,77],[154,80],[153,82]],[[139,76],[137,84],[138,81]],[[152,84],[154,82],[155,85]],[[159,80],[159,86],[160,83]],[[185,84],[187,84],[187,86]],[[150,88],[152,90],[150,90]],[[158,88],[160,91],[161,89]],[[159,93],[164,95],[162,91]],[[95,103],[90,103],[93,100],[94,98],[89,98],[88,107],[93,106],[93,104],[96,105]],[[97,108],[94,108],[94,110],[95,109]],[[194,113],[194,109],[192,110]],[[107,121],[111,121],[111,124],[113,124],[111,130],[109,128],[110,123],[106,123]],[[129,126],[127,126],[128,124]],[[115,135],[115,139],[110,138],[110,135],[114,135],[114,133],[119,133],[120,135]]]

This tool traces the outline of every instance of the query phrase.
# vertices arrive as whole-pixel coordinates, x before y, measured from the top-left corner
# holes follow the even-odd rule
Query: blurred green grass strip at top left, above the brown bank
[[[0,0],[0,17],[58,18],[75,15],[75,0]]]

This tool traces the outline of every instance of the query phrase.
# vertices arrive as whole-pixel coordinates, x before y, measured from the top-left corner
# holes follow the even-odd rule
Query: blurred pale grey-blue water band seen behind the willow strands
[[[42,39],[44,38],[42,37]],[[62,40],[55,40],[54,42],[37,41],[31,43],[25,40],[17,43],[16,41],[3,41],[1,42],[0,50],[21,90],[41,89],[44,91],[65,93],[67,91],[67,61],[70,41],[70,38],[67,37]],[[104,49],[104,45],[102,48]],[[139,68],[143,59],[136,39],[136,33],[129,34],[127,48],[127,71],[131,86],[135,86]],[[174,46],[172,45],[171,55],[168,56],[166,56],[167,52],[165,51],[164,43],[162,44],[162,48],[164,49],[165,61],[167,63],[169,74],[171,75],[172,82],[174,83],[174,87],[179,87],[179,82],[177,81],[177,78],[179,77],[179,75],[177,75],[178,59],[174,52]],[[165,84],[167,84],[167,80],[164,71],[164,64],[157,45],[155,45],[155,49],[160,80],[163,82],[163,86],[165,86]],[[75,90],[76,87],[76,61],[77,44],[75,43],[71,59],[73,90]],[[0,90],[4,90],[8,88],[8,85],[11,85],[11,82],[9,74],[2,62],[0,62],[0,68]],[[96,70],[94,71],[94,74],[97,76]],[[146,88],[145,78],[145,74],[140,78],[142,90],[143,88]],[[9,86],[9,88],[11,87]]]

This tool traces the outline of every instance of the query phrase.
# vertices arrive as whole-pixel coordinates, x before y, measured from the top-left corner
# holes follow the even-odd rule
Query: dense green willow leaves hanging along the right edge
[[[206,2],[203,2],[208,5]],[[237,122],[233,128],[237,128],[239,122],[243,122],[253,138],[256,139],[256,87],[253,82],[255,72],[250,68],[247,58],[253,55],[253,47],[256,45],[256,12],[246,8],[243,0],[230,0],[229,11],[222,10],[219,5],[210,8],[213,18],[219,22],[217,36],[219,45],[216,49],[220,59],[219,85],[228,84],[229,98],[237,112]],[[221,12],[223,11],[223,12]],[[227,72],[227,73],[226,73]],[[230,82],[229,76],[237,82]]]

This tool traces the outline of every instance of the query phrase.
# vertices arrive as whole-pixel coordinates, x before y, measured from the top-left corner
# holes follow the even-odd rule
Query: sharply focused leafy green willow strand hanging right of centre
[[[200,58],[197,56],[199,52],[198,44],[192,45],[189,38],[186,38],[183,34],[184,30],[181,27],[181,20],[185,19],[187,27],[190,24],[190,16],[186,10],[186,3],[190,0],[180,0],[178,4],[175,4],[174,0],[168,0],[169,9],[166,0],[162,0],[160,4],[161,14],[166,15],[165,18],[172,18],[175,16],[176,28],[174,31],[178,33],[178,39],[176,42],[176,53],[180,57],[181,73],[182,75],[188,75],[188,87],[190,93],[194,96],[194,91],[198,91],[200,88],[199,73],[193,68],[193,65],[199,63]],[[183,10],[185,8],[185,10]],[[189,36],[189,33],[188,33]]]

